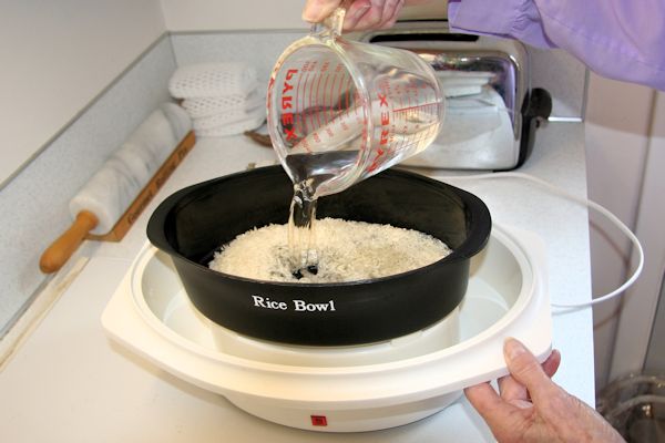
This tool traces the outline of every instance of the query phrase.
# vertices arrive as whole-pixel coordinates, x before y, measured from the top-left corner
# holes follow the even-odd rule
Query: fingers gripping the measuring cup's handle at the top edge
[[[431,0],[355,0],[347,8],[345,31],[365,31],[390,28],[405,4],[419,4]],[[341,0],[307,0],[303,20],[316,23],[324,20],[341,4]]]

